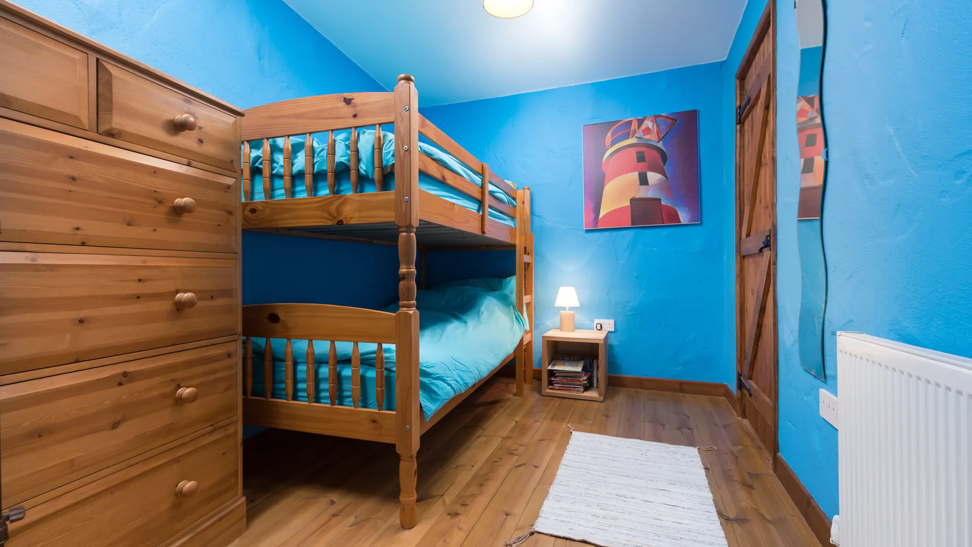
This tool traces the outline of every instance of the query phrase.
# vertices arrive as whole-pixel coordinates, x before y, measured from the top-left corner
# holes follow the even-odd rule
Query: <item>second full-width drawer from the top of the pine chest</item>
[[[238,334],[236,266],[229,259],[0,252],[0,374]],[[177,305],[189,293],[197,304],[182,297]]]

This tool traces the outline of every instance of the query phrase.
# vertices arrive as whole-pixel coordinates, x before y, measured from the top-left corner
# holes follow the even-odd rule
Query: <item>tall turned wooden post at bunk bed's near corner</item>
[[[419,224],[419,113],[415,80],[399,76],[395,87],[395,223],[399,226],[399,311],[395,316],[395,417],[399,453],[399,523],[418,521],[415,492],[421,434],[419,407],[419,312],[415,309],[415,229]]]

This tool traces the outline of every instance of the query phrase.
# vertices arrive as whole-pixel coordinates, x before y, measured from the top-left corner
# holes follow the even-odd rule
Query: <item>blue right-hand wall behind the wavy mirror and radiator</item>
[[[799,186],[792,2],[779,0],[778,214]],[[795,227],[780,224],[781,454],[830,516],[838,512],[837,432],[817,389],[837,392],[836,333],[863,331],[972,356],[972,4],[829,2],[823,73],[829,174],[827,381],[800,368]]]

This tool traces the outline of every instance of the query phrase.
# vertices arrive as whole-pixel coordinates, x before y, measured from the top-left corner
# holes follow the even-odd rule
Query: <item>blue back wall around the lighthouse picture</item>
[[[557,326],[557,288],[574,285],[578,328],[593,328],[595,318],[615,319],[612,374],[733,380],[723,311],[719,74],[719,63],[710,63],[423,109],[501,176],[533,189],[536,329]],[[421,101],[421,82],[418,88]],[[690,109],[699,110],[702,223],[585,232],[581,127]]]

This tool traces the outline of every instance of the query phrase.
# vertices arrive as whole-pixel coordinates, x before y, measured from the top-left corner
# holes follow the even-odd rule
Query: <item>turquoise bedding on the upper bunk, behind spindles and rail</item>
[[[395,164],[395,134],[382,131],[382,164],[385,166],[385,178],[382,183],[382,190],[395,189],[395,173],[388,172],[389,167]],[[306,198],[307,190],[304,186],[304,140],[302,136],[291,137],[291,156],[292,170],[294,174],[293,198]],[[328,144],[320,142],[312,137],[314,146],[314,196],[328,196]],[[361,129],[358,131],[358,150],[359,169],[359,192],[374,192],[374,129]],[[439,164],[445,165],[453,172],[459,174],[472,184],[482,188],[482,176],[469,169],[465,164],[457,160],[454,156],[439,150],[426,142],[419,142],[419,151],[429,156]],[[244,158],[243,161],[246,161]],[[284,199],[284,139],[270,139],[270,199]],[[263,196],[263,150],[259,142],[251,144],[250,152],[251,172],[253,176],[253,200],[264,200]],[[351,194],[351,133],[350,131],[335,131],[334,133],[334,170],[335,170],[335,193]],[[456,190],[448,184],[419,172],[419,189],[425,190],[444,200],[458,203],[464,207],[480,212],[481,203],[470,198],[466,194]],[[490,183],[489,191],[499,201],[508,205],[515,206],[515,201],[507,196],[499,187]],[[500,211],[490,207],[490,218],[502,222],[508,226],[515,226],[516,220]]]

